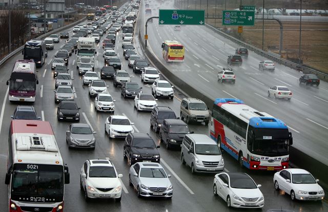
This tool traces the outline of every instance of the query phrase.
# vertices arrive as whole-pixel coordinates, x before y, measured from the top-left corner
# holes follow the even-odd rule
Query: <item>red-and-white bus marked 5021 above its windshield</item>
[[[9,212],[62,212],[70,177],[50,123],[12,120],[8,149]]]

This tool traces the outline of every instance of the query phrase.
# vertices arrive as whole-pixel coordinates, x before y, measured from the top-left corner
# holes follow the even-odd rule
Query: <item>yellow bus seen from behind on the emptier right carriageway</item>
[[[176,40],[165,40],[162,43],[163,58],[167,62],[183,62],[185,60],[185,48]]]

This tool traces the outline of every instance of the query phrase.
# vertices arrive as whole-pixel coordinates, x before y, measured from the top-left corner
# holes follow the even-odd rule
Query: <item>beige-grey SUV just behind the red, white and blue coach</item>
[[[207,105],[197,98],[183,98],[180,105],[181,120],[186,118],[187,123],[204,122],[209,124],[210,113]]]

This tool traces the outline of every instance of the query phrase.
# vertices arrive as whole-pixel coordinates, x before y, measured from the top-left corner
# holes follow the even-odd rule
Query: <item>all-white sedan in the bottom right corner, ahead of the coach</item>
[[[276,190],[283,190],[292,200],[323,200],[324,191],[318,182],[311,173],[300,168],[286,168],[273,176]]]

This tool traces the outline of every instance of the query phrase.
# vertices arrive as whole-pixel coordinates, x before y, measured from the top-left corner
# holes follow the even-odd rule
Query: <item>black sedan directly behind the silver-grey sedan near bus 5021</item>
[[[58,121],[69,120],[79,122],[79,109],[74,101],[60,101],[57,108]]]

